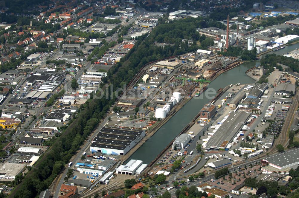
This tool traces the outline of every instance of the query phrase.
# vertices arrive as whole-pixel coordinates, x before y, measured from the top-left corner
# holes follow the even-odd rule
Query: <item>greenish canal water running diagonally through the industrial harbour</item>
[[[286,48],[275,51],[277,55],[283,55],[298,47],[298,44],[286,46]],[[269,52],[274,53],[274,52]],[[255,65],[259,65],[259,61],[243,63],[227,72],[221,74],[212,81],[208,88],[218,90],[230,84],[249,84],[255,81],[245,74],[247,69]],[[209,90],[208,89],[208,90]],[[168,120],[149,140],[147,140],[139,149],[137,149],[126,161],[131,159],[143,160],[149,164],[155,157],[173,140],[181,130],[199,113],[200,109],[208,103],[216,94],[207,95],[208,90],[199,97],[192,98],[185,104],[179,112]]]

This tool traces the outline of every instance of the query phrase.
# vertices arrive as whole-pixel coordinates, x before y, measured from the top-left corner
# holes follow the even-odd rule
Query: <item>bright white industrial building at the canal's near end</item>
[[[145,168],[147,164],[143,164],[141,160],[130,160],[126,165],[120,165],[116,169],[117,174],[135,175],[136,171],[141,167]]]

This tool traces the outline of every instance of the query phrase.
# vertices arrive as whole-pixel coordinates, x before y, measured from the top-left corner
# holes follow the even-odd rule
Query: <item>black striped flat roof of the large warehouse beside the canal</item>
[[[94,138],[91,147],[123,150],[143,132],[135,129],[103,127]]]

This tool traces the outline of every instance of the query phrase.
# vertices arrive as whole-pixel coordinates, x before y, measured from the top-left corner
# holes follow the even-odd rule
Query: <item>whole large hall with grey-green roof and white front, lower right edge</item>
[[[263,164],[269,164],[269,166],[272,166],[279,170],[283,170],[289,167],[297,168],[299,163],[298,152],[299,149],[293,149],[291,151],[286,151],[284,153],[277,154],[273,157],[265,158],[261,162]]]

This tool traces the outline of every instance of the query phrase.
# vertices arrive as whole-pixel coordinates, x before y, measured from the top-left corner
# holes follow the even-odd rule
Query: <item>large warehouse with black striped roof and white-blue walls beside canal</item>
[[[90,151],[103,154],[125,155],[143,137],[145,137],[145,131],[103,127],[94,140],[92,140]]]

